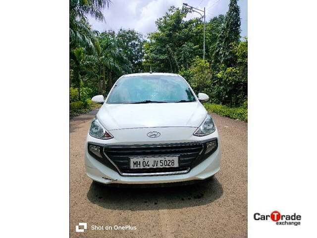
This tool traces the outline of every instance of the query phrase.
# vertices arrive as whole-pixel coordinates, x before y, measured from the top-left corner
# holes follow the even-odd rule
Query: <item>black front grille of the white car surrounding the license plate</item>
[[[216,141],[216,138],[212,140]],[[150,145],[100,145],[103,159],[98,160],[107,167],[117,170],[123,176],[184,174],[216,150],[215,148],[211,153],[205,155],[206,143],[207,141]],[[178,156],[179,167],[130,169],[131,157],[157,156]],[[109,162],[111,166],[109,166]]]

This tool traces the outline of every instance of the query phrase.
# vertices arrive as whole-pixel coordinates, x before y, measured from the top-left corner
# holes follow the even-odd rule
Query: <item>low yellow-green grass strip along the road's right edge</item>
[[[207,111],[219,114],[224,117],[239,119],[245,122],[248,122],[248,108],[247,107],[238,107],[238,108],[229,108],[224,105],[204,103],[204,106]]]

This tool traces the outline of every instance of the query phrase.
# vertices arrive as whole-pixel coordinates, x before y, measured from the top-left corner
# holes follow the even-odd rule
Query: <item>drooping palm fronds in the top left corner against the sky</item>
[[[87,16],[104,21],[102,10],[108,7],[110,0],[70,0],[69,1],[69,43],[70,49],[84,47],[95,51],[95,33],[88,24]]]

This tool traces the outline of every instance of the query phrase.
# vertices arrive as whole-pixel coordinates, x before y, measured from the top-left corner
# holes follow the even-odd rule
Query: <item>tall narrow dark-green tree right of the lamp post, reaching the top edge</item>
[[[212,66],[216,69],[219,64],[225,67],[233,67],[237,63],[237,56],[232,51],[232,43],[240,41],[240,8],[237,0],[230,0],[229,10],[224,19],[224,24],[217,41],[212,60]]]

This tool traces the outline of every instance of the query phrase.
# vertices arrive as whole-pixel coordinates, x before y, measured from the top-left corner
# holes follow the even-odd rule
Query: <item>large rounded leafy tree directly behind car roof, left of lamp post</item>
[[[193,42],[200,33],[196,26],[201,24],[201,19],[186,21],[189,12],[191,10],[187,7],[171,6],[156,21],[158,31],[148,35],[149,42],[144,46],[146,70],[152,66],[155,71],[177,73],[181,68],[188,67],[195,56],[200,54]]]

